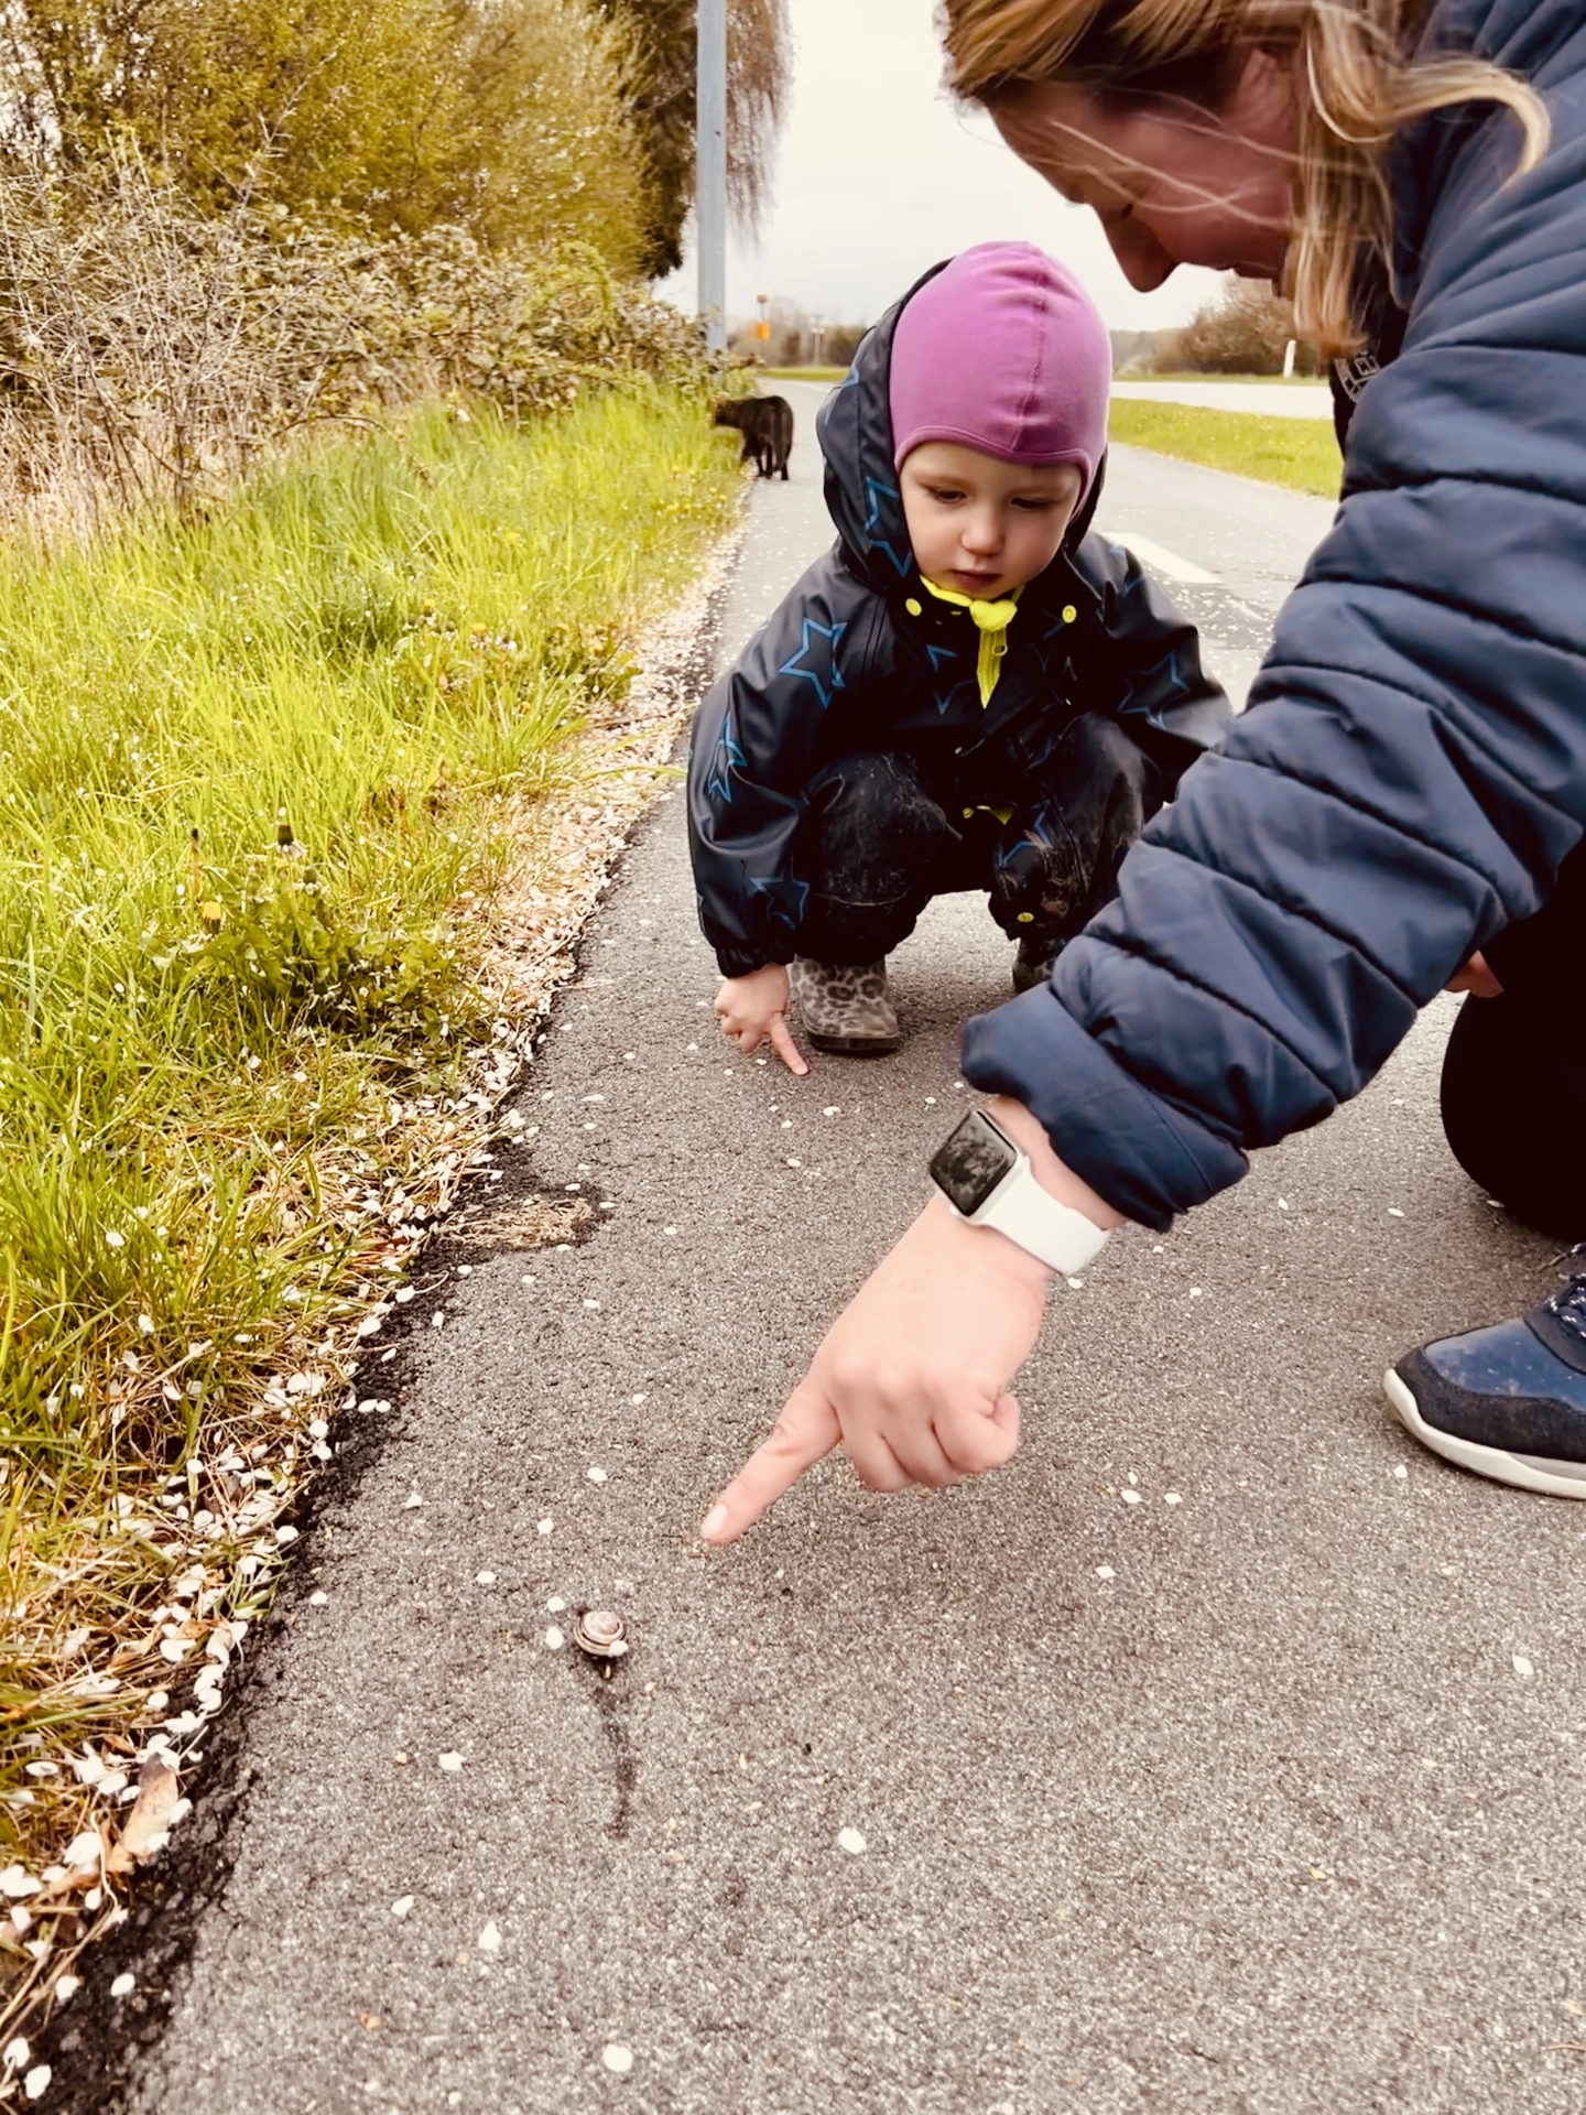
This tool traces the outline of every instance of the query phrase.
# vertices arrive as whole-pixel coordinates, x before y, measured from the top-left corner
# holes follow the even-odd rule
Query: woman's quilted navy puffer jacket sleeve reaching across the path
[[[1055,986],[969,1026],[966,1077],[1148,1227],[1358,1093],[1586,827],[1580,106],[1510,184],[1512,135],[1463,148],[1250,711]]]

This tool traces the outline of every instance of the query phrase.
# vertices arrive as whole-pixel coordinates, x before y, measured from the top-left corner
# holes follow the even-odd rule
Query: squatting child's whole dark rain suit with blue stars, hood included
[[[837,544],[694,723],[694,882],[727,977],[795,954],[873,960],[947,888],[990,888],[1013,935],[1036,920],[1047,945],[1076,933],[1140,823],[1227,725],[1195,628],[1127,552],[1085,533],[1100,476],[1023,588],[981,704],[979,632],[922,586],[892,467],[888,364],[907,298],[820,410]],[[1002,838],[992,808],[1013,810]],[[890,876],[875,871],[882,840]],[[846,890],[840,867],[867,871]]]

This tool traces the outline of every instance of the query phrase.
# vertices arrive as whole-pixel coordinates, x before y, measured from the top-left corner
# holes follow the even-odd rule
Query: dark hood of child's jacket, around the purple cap
[[[814,423],[827,463],[827,512],[842,537],[844,558],[850,571],[878,594],[901,594],[920,586],[920,567],[909,544],[903,495],[892,467],[892,334],[899,315],[920,288],[945,271],[949,262],[943,258],[941,264],[933,264],[914,281],[903,300],[892,302],[880,324],[865,332],[848,376],[831,391]],[[1102,457],[1085,505],[1068,525],[1062,550],[1047,571],[1062,567],[1064,558],[1078,548],[1095,518],[1104,478],[1106,457]]]

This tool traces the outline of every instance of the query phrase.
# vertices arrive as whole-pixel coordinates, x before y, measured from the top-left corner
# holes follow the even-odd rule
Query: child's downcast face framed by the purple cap
[[[903,514],[926,580],[994,603],[1045,573],[1074,508],[1074,463],[1030,470],[958,440],[926,440],[903,463]]]

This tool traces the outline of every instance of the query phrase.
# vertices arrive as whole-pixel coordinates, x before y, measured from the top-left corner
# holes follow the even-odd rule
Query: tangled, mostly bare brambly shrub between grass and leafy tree
[[[425,391],[527,417],[637,376],[713,379],[694,324],[588,245],[211,218],[129,148],[13,171],[0,209],[0,512],[47,531],[205,501],[305,427]]]

